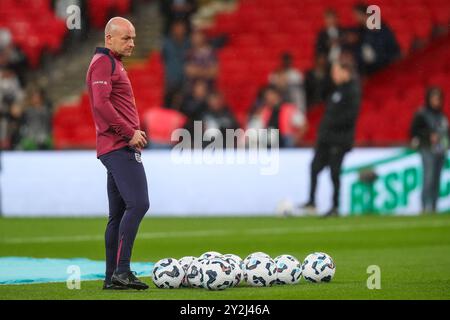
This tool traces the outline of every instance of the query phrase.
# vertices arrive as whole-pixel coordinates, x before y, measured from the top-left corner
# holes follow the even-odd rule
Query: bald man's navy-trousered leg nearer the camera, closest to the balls
[[[125,202],[125,213],[119,225],[117,268],[114,273],[125,277],[130,274],[131,254],[139,224],[149,208],[147,179],[140,157],[131,149],[113,151],[102,156],[101,160],[111,172]]]

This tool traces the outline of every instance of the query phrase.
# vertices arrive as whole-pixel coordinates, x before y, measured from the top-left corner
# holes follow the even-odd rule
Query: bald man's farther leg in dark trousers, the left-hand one
[[[111,282],[111,276],[117,267],[117,249],[119,247],[119,226],[125,213],[125,202],[117,189],[116,182],[108,171],[108,201],[109,219],[105,231],[106,249],[106,278],[105,282]]]

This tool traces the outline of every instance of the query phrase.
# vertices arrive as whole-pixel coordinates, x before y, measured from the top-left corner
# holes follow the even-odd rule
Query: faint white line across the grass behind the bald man
[[[279,235],[292,233],[318,233],[318,232],[351,232],[371,230],[400,230],[415,228],[440,228],[450,226],[450,221],[423,221],[406,222],[396,221],[384,224],[360,224],[360,225],[334,225],[334,226],[311,226],[297,228],[253,228],[237,230],[194,230],[194,231],[169,231],[169,232],[143,232],[138,234],[139,239],[164,239],[183,237],[209,237],[217,235]],[[24,243],[64,243],[103,241],[103,235],[74,235],[74,236],[46,236],[34,238],[4,238],[0,244],[24,244]]]

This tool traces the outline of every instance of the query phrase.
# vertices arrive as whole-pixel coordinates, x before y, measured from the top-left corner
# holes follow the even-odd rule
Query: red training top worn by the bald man
[[[114,70],[113,70],[114,68]],[[97,133],[97,158],[123,148],[139,129],[133,89],[120,56],[98,47],[86,85]]]

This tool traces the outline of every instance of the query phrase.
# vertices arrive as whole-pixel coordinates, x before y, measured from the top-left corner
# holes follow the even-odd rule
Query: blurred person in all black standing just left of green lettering
[[[340,174],[344,156],[353,147],[356,120],[361,104],[361,87],[353,65],[335,62],[331,68],[335,88],[327,99],[325,114],[319,126],[314,158],[311,164],[309,200],[303,209],[315,211],[317,177],[329,166],[333,182],[333,206],[325,216],[337,216]]]

